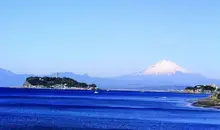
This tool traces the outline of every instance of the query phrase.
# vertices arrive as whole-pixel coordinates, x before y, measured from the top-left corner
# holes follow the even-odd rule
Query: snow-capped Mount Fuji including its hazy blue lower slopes
[[[133,86],[158,88],[162,86],[182,86],[198,84],[220,84],[219,80],[209,79],[201,74],[192,73],[169,60],[161,60],[147,69],[120,77],[121,80],[133,82]],[[176,89],[174,87],[173,89]]]

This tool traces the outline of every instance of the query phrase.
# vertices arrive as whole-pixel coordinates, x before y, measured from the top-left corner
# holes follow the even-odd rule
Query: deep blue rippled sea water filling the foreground
[[[219,130],[220,111],[189,103],[207,96],[0,88],[0,129]]]

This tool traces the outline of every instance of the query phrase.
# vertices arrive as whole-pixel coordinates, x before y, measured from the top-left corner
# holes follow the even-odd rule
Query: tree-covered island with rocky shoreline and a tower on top
[[[67,77],[28,77],[23,85],[24,88],[48,88],[48,89],[76,89],[97,90],[95,84],[78,82]]]

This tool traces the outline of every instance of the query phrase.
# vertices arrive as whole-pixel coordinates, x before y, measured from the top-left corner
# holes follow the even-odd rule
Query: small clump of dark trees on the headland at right
[[[194,93],[213,93],[220,90],[212,85],[196,85],[195,87],[186,87],[185,91]]]

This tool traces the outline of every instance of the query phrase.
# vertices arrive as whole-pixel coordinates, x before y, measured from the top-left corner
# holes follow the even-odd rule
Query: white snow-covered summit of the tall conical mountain
[[[188,73],[187,70],[168,60],[162,60],[136,75],[172,75],[177,72]]]

